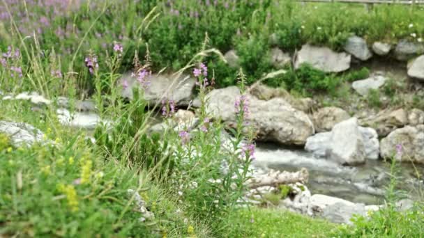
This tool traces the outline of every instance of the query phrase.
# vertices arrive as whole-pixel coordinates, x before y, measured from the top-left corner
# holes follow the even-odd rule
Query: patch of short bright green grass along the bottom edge
[[[285,209],[241,209],[229,221],[227,237],[329,237],[338,225]]]

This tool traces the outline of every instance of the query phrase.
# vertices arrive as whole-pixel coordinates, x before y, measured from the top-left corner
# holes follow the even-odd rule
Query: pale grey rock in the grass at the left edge
[[[8,135],[13,145],[32,145],[44,140],[44,134],[36,127],[24,122],[6,122],[0,120],[0,133]]]

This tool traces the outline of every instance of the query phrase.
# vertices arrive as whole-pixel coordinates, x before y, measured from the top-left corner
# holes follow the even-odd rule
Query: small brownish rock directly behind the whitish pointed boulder
[[[316,132],[331,131],[334,125],[349,118],[349,113],[335,106],[323,107],[312,114]]]

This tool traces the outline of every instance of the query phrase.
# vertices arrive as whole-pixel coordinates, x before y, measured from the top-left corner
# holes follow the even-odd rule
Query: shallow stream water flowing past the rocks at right
[[[361,166],[341,166],[329,159],[317,159],[311,153],[296,148],[283,148],[271,143],[259,143],[255,152],[255,166],[275,170],[296,171],[307,168],[310,177],[308,188],[312,194],[344,198],[366,205],[381,204],[390,182],[391,169],[388,162],[367,160]],[[423,178],[418,180],[417,172],[424,174],[424,166],[397,164],[398,189],[417,200],[424,191]]]

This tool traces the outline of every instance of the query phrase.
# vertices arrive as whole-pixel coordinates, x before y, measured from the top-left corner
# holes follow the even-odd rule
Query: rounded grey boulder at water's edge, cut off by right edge
[[[402,146],[400,153],[397,152],[399,145]],[[424,164],[424,125],[406,126],[388,134],[381,140],[381,157]]]

